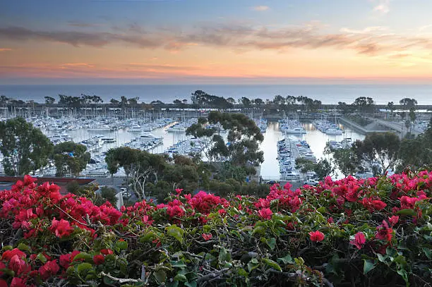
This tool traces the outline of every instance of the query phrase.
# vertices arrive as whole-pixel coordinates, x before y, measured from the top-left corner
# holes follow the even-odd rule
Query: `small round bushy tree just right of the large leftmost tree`
[[[79,176],[90,161],[90,153],[85,145],[75,142],[61,142],[54,147],[56,176]]]

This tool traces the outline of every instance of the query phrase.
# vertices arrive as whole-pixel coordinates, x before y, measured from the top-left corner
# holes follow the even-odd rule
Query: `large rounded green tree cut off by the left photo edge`
[[[23,176],[46,166],[53,149],[49,138],[24,118],[1,121],[0,142],[4,172],[8,176]]]

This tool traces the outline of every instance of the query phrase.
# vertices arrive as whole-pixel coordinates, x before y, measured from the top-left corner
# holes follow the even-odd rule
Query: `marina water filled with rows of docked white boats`
[[[39,116],[28,118],[34,126],[40,128],[54,144],[73,141],[87,147],[91,161],[81,176],[109,176],[104,161],[105,153],[114,147],[131,147],[152,153],[166,152],[188,155],[191,152],[203,152],[208,142],[186,136],[186,129],[198,118],[180,116],[179,120],[165,118],[163,114],[149,118],[52,118]],[[305,176],[295,169],[295,159],[303,157],[316,161],[323,157],[325,145],[329,142],[333,148],[349,147],[355,140],[364,139],[364,135],[339,125],[328,125],[341,133],[332,134],[323,131],[324,123],[299,121],[284,118],[280,121],[268,121],[265,118],[254,118],[264,135],[260,145],[264,152],[264,162],[259,169],[259,176],[265,180],[301,180]],[[317,126],[321,127],[320,129]],[[220,125],[221,135],[226,133]],[[285,140],[285,142],[283,142]],[[282,142],[281,142],[282,141]],[[277,143],[277,144],[276,144]],[[277,146],[275,146],[277,145]],[[275,148],[277,147],[277,148]],[[1,172],[1,170],[0,170]],[[52,176],[55,174],[53,162],[38,170],[35,176]],[[122,176],[122,173],[114,176]]]

